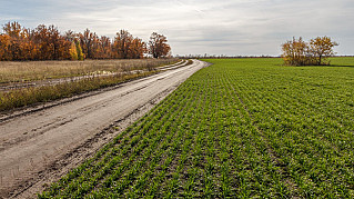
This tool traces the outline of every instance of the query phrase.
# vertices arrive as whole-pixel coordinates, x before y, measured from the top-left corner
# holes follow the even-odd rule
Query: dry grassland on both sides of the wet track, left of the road
[[[87,61],[33,61],[33,62],[0,62],[2,64],[1,77],[8,74],[16,81],[38,80],[38,78],[62,78],[69,76],[88,74],[93,71],[100,74],[102,71],[120,73],[107,77],[92,77],[75,81],[68,81],[53,86],[29,87],[0,91],[0,111],[8,111],[40,102],[53,101],[72,97],[88,91],[111,87],[128,80],[154,74],[158,67],[178,62],[178,59],[143,59],[143,60],[87,60]],[[8,63],[7,67],[6,63]],[[13,66],[12,66],[13,64]],[[11,68],[13,67],[13,68]],[[23,71],[22,71],[23,69]],[[139,72],[130,72],[141,70]],[[12,73],[11,73],[12,72]],[[24,78],[24,79],[23,79]],[[11,78],[2,78],[10,80]]]

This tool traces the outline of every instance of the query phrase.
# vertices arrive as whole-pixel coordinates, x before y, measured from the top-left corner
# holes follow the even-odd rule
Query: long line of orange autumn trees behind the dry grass
[[[39,24],[34,29],[8,22],[0,34],[0,60],[83,60],[83,59],[141,59],[171,56],[171,47],[163,34],[153,32],[149,42],[133,37],[128,30],[117,32],[114,39],[85,29],[61,34],[54,26]]]

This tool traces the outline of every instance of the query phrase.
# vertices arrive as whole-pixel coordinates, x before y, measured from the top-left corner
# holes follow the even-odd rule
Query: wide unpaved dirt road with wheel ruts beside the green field
[[[0,120],[0,198],[33,198],[208,63]]]

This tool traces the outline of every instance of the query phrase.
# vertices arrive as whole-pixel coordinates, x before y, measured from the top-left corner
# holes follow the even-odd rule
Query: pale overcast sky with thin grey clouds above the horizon
[[[85,28],[114,37],[127,29],[168,37],[173,54],[271,54],[302,36],[328,36],[338,54],[354,54],[353,0],[0,0],[0,23]]]

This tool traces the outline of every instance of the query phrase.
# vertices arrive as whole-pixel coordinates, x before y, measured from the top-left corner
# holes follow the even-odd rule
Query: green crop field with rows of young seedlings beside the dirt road
[[[354,197],[354,58],[206,61],[39,197]]]

